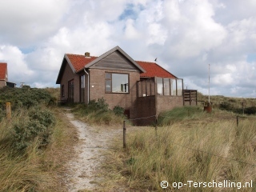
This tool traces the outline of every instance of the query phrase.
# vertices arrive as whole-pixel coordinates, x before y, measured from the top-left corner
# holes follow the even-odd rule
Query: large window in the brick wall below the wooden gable
[[[129,75],[106,73],[105,90],[108,93],[129,93]]]

